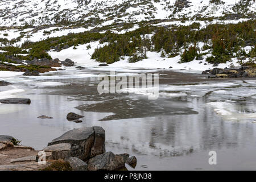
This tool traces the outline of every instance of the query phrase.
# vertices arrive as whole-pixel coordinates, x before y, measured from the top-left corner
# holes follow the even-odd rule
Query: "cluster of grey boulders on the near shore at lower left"
[[[7,147],[14,147],[11,143],[12,139],[13,137],[0,136],[0,151]],[[129,154],[115,155],[113,152],[106,152],[105,130],[99,126],[68,131],[49,142],[42,152],[38,152],[38,154],[44,154],[46,165],[56,160],[64,160],[74,171],[113,171],[126,168],[126,163],[132,167],[135,167],[137,163],[135,156],[129,158]],[[9,163],[19,162],[23,163],[0,166],[0,170],[22,170],[24,168],[36,170],[39,167],[40,156],[23,156],[11,159]]]

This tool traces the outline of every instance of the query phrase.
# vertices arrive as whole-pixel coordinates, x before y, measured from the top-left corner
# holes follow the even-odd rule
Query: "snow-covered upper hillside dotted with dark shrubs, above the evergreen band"
[[[1,0],[0,26],[81,21],[138,22],[167,18],[255,15],[255,0]],[[215,1],[215,2],[218,2]]]

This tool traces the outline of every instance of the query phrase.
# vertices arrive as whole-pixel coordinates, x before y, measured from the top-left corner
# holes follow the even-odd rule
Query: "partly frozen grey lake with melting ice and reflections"
[[[108,69],[70,68],[5,78],[14,85],[0,87],[0,98],[19,96],[32,102],[0,104],[0,134],[41,150],[65,131],[102,126],[106,150],[135,155],[135,170],[256,169],[256,80],[207,80],[192,73],[119,68],[119,75],[160,74],[159,98],[150,101],[141,90],[99,95],[97,75],[110,74]],[[68,122],[71,111],[84,115],[83,122]],[[217,165],[209,165],[209,151],[217,152]]]

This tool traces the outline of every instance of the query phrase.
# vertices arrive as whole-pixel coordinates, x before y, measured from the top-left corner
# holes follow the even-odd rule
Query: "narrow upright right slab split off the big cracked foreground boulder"
[[[94,143],[90,151],[90,158],[96,155],[104,154],[105,150],[105,130],[99,126],[93,126],[94,130]]]

